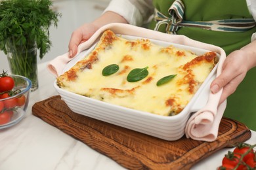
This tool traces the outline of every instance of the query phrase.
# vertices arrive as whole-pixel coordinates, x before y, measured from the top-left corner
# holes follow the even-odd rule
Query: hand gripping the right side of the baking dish
[[[238,85],[252,67],[256,65],[256,41],[241,50],[230,53],[223,63],[223,71],[211,83],[211,92],[217,93],[223,88],[220,103],[236,91]]]

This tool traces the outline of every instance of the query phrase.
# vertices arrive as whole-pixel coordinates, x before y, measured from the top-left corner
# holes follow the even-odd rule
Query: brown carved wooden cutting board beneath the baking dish
[[[190,169],[194,163],[217,150],[251,137],[251,131],[244,124],[223,118],[219,137],[214,142],[186,137],[165,141],[76,114],[59,95],[35,103],[32,113],[127,169]]]

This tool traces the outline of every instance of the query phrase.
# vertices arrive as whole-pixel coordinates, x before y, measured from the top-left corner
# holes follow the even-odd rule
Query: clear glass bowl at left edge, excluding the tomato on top
[[[24,118],[30,100],[32,82],[20,75],[8,75],[14,80],[14,88],[9,91],[14,95],[2,99],[0,94],[0,129],[11,127]]]

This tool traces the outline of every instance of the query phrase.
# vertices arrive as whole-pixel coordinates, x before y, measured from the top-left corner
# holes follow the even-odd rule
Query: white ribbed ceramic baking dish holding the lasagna
[[[141,38],[128,35],[122,35],[122,37],[125,39]],[[153,39],[150,39],[150,41],[161,46],[169,46],[172,44],[178,48],[190,50],[198,55],[209,52],[209,50],[184,46],[181,44],[156,41]],[[95,48],[95,45],[91,46],[89,50],[81,52],[72,59],[72,61],[70,61],[64,68],[63,73],[68,71],[68,69],[75,65],[77,61],[84,58],[86,54],[91,52],[91,50]],[[217,56],[219,57],[219,54],[217,54]],[[175,116],[160,116],[140,110],[120,107],[104,101],[98,101],[90,97],[85,97],[83,95],[63,90],[56,85],[56,81],[54,82],[54,88],[56,88],[57,92],[68,107],[78,114],[83,114],[117,126],[126,127],[167,141],[175,141],[184,135],[184,129],[190,114],[201,109],[207,103],[210,93],[209,86],[216,76],[217,65],[215,65],[209,76],[207,76],[202,86],[199,88],[198,92],[196,92],[194,97],[192,97],[188,105],[186,105],[182,112]]]

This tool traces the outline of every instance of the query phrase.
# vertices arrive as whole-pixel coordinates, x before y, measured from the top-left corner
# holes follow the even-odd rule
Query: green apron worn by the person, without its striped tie
[[[168,9],[174,0],[153,0],[154,7],[161,14],[169,16]],[[230,18],[253,18],[247,9],[245,0],[182,0],[184,3],[183,20],[213,21]],[[149,25],[154,29],[156,22]],[[158,31],[165,31],[166,25],[161,25]],[[210,31],[198,27],[180,27],[176,32],[186,35],[190,39],[220,46],[226,52],[238,50],[251,42],[251,35],[256,27],[242,32]],[[245,79],[238,86],[236,92],[228,97],[224,116],[244,123],[256,131],[256,67],[247,72]]]

